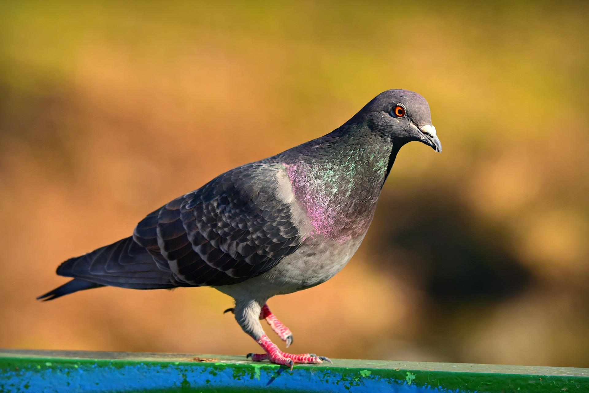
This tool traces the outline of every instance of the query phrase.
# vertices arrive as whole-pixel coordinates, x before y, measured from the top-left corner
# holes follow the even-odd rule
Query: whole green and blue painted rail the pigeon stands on
[[[244,356],[0,350],[0,392],[589,392],[589,369]]]

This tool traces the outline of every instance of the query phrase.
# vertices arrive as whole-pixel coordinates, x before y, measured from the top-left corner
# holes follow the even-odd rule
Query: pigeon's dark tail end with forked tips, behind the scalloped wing
[[[52,300],[78,290],[101,286],[133,289],[175,288],[167,261],[152,255],[133,237],[66,260],[57,274],[74,279],[37,299]]]

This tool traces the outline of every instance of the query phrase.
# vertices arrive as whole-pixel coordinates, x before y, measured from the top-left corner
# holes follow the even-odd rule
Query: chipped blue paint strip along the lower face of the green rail
[[[342,375],[337,369],[298,367],[290,369],[260,364],[228,367],[226,364],[74,364],[44,366],[5,372],[0,392],[137,392],[149,390],[210,391],[269,388],[306,392],[447,392],[446,389],[418,387],[411,379],[399,381],[374,375],[370,370]],[[415,378],[415,377],[413,377]],[[326,388],[329,387],[329,388]]]

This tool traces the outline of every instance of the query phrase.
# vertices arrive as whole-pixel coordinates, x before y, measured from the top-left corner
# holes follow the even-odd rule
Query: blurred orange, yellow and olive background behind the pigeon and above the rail
[[[403,147],[349,265],[269,301],[290,349],[589,366],[581,2],[2,2],[0,347],[258,351],[210,288],[35,297],[389,88],[426,97],[444,152]]]

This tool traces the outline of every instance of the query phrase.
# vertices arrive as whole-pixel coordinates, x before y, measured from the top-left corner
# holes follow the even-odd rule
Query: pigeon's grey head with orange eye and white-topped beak
[[[350,122],[366,122],[372,130],[406,143],[420,141],[442,151],[432,125],[428,101],[421,95],[401,89],[387,90],[372,99]]]

